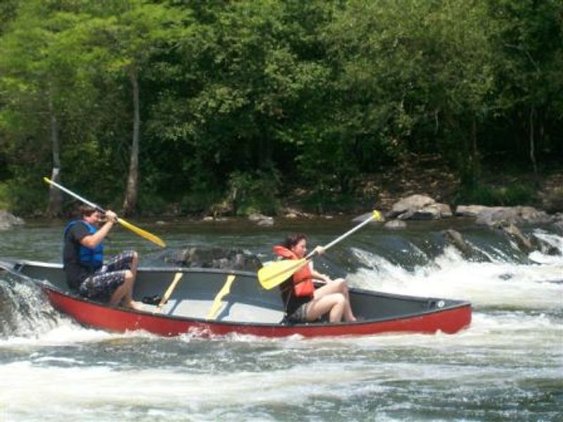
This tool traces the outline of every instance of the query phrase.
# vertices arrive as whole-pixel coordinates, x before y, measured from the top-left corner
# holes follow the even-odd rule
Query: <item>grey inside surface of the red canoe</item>
[[[32,279],[49,283],[57,290],[68,290],[61,264],[44,262],[18,262],[15,271]],[[233,274],[230,292],[224,295],[215,321],[252,324],[279,324],[284,318],[284,304],[277,288],[263,289],[255,273],[222,269],[193,268],[139,268],[134,288],[134,300],[152,296],[162,297],[172,283],[175,274],[182,272],[170,299],[162,307],[161,314],[189,319],[206,319],[217,293]],[[367,321],[396,319],[437,309],[467,305],[460,300],[440,298],[415,298],[411,296],[375,293],[350,289],[350,302],[354,313]],[[147,305],[147,312],[156,311],[156,305]]]

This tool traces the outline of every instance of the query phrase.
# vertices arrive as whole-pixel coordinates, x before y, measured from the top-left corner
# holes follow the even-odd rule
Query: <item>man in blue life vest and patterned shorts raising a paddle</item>
[[[65,228],[63,264],[68,286],[91,300],[142,309],[133,300],[137,252],[124,251],[103,263],[103,240],[117,215],[110,210],[104,215],[89,205],[80,205],[79,212],[82,219]]]

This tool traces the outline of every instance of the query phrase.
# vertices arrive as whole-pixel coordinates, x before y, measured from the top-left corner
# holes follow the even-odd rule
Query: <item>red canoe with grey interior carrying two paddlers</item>
[[[285,324],[279,290],[261,288],[255,273],[194,268],[140,268],[134,290],[134,299],[139,301],[162,297],[175,276],[182,274],[182,278],[163,307],[145,305],[146,310],[135,311],[109,307],[72,293],[60,264],[18,261],[4,262],[3,266],[30,277],[63,314],[85,326],[109,331],[144,330],[158,335],[241,333],[264,337],[436,331],[451,334],[469,326],[472,317],[471,304],[462,300],[417,298],[353,288],[350,302],[360,321]],[[218,295],[228,276],[234,276],[229,293]],[[210,313],[212,308],[215,312]]]

